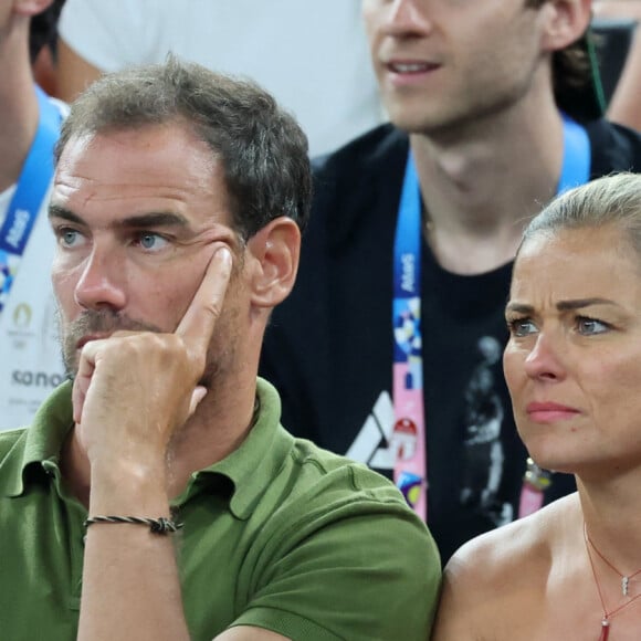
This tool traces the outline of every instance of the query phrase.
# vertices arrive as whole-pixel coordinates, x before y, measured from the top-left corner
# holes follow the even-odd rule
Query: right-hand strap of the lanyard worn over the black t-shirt
[[[564,114],[564,164],[557,196],[588,182],[590,159],[590,139],[586,129]],[[518,518],[534,514],[543,507],[545,492],[551,482],[551,474],[547,470],[543,470],[532,459],[527,459],[518,502]]]

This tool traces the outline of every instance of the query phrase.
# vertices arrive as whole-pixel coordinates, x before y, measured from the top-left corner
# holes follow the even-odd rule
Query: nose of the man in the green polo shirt
[[[114,309],[125,307],[125,270],[123,261],[107,249],[94,245],[76,283],[75,302],[85,309]]]

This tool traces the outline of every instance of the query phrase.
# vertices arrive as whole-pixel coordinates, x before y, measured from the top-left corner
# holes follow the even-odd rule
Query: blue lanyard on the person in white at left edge
[[[40,111],[38,130],[0,228],[0,313],[9,298],[27,241],[49,190],[53,176],[53,148],[60,136],[60,109],[40,87],[34,88]]]

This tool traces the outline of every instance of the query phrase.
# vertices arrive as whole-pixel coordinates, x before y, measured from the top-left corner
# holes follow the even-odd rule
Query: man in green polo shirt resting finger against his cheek
[[[2,639],[428,639],[425,526],[256,379],[309,193],[305,136],[250,83],[169,59],[73,105],[50,204],[70,381],[0,434]]]

